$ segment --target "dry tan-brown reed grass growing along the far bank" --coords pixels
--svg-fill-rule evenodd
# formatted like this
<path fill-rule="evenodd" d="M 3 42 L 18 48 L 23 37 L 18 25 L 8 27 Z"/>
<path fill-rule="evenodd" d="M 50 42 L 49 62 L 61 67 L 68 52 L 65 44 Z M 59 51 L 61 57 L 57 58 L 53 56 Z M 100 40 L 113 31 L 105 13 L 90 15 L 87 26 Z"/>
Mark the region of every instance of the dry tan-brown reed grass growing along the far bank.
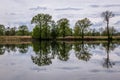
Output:
<path fill-rule="evenodd" d="M 84 40 L 85 41 L 93 41 L 93 40 L 107 40 L 108 37 L 107 36 L 85 36 Z M 44 39 L 45 40 L 45 39 Z M 50 39 L 52 40 L 52 39 Z M 56 40 L 82 40 L 81 36 L 66 36 L 66 37 L 58 37 Z M 113 36 L 112 40 L 120 40 L 120 36 Z M 0 36 L 0 43 L 2 42 L 31 42 L 32 41 L 32 37 L 31 36 Z"/>

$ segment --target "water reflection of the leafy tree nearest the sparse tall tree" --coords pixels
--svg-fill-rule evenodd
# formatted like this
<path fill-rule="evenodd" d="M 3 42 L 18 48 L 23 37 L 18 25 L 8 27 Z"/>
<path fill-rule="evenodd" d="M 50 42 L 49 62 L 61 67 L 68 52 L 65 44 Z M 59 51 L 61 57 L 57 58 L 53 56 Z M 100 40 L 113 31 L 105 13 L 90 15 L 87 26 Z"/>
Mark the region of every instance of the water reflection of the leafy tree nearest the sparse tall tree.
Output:
<path fill-rule="evenodd" d="M 89 61 L 92 54 L 88 51 L 88 46 L 85 46 L 84 41 L 81 44 L 74 45 L 75 55 L 79 60 Z"/>

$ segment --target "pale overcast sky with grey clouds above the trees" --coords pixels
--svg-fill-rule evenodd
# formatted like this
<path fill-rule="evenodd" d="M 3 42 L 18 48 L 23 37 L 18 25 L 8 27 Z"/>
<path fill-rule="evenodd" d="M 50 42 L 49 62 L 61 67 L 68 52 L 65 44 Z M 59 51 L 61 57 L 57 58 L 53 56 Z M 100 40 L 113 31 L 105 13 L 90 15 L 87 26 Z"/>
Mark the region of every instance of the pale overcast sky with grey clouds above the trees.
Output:
<path fill-rule="evenodd" d="M 78 19 L 87 17 L 93 23 L 92 28 L 99 28 L 105 26 L 100 14 L 106 10 L 115 14 L 110 25 L 120 30 L 120 0 L 0 0 L 0 24 L 26 24 L 32 29 L 32 17 L 48 13 L 55 21 L 68 18 L 71 27 Z"/>

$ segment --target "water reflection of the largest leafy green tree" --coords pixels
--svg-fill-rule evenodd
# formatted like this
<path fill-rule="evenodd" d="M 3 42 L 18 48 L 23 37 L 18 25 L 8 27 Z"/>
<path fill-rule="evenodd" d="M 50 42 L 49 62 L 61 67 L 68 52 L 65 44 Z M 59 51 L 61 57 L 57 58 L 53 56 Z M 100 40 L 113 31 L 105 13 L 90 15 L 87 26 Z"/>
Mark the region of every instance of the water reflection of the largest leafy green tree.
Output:
<path fill-rule="evenodd" d="M 36 42 L 33 43 L 33 49 L 36 56 L 31 56 L 33 63 L 38 66 L 50 65 L 52 63 L 50 53 L 50 43 L 49 42 Z"/>

